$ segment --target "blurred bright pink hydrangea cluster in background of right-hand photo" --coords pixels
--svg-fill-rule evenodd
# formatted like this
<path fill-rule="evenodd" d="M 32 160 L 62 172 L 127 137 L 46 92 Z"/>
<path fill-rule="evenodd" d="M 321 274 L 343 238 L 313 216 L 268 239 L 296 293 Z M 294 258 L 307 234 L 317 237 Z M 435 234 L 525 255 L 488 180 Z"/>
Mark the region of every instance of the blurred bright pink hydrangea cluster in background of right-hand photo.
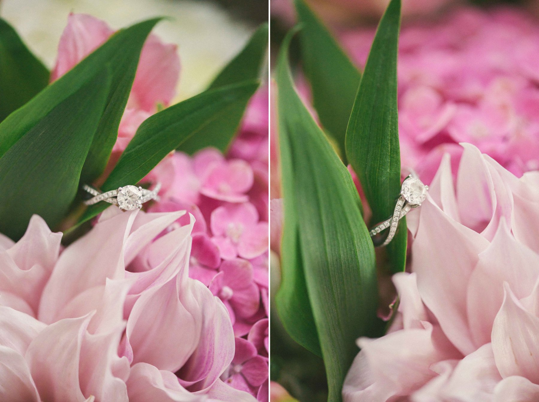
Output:
<path fill-rule="evenodd" d="M 342 34 L 360 65 L 374 33 Z M 430 182 L 443 154 L 459 156 L 458 144 L 466 142 L 516 175 L 539 168 L 536 19 L 516 9 L 461 8 L 438 21 L 405 24 L 398 57 L 403 167 Z"/>

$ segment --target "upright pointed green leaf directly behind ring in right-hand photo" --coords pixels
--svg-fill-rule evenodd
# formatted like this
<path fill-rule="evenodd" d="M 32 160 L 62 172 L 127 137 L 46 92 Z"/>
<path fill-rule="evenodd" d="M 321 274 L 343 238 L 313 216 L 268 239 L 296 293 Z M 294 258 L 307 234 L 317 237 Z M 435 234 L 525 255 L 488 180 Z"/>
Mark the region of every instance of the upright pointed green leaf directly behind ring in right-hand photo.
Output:
<path fill-rule="evenodd" d="M 393 215 L 400 193 L 397 112 L 397 52 L 400 0 L 391 0 L 382 17 L 350 115 L 346 154 L 372 210 L 372 223 Z M 403 271 L 406 221 L 387 247 L 393 272 Z"/>

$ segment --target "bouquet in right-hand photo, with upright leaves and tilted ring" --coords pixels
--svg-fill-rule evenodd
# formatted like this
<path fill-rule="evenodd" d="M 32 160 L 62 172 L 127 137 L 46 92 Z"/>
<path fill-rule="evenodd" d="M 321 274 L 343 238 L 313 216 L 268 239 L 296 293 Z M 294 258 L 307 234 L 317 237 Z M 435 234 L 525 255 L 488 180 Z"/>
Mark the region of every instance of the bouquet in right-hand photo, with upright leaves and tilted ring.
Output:
<path fill-rule="evenodd" d="M 335 39 L 295 8 L 272 379 L 301 401 L 538 400 L 537 21 L 459 6 L 400 32 L 391 0 L 376 31 Z"/>

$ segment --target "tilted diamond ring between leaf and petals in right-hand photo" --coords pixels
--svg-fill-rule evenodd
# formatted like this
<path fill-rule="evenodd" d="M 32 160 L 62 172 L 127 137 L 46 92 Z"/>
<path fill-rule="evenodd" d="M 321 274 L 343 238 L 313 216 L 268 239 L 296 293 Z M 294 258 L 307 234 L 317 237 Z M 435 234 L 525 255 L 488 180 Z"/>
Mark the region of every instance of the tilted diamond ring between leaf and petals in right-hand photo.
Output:
<path fill-rule="evenodd" d="M 409 213 L 410 209 L 419 207 L 421 203 L 425 201 L 428 189 L 429 186 L 425 186 L 421 180 L 413 175 L 409 175 L 403 181 L 403 184 L 400 187 L 400 196 L 397 199 L 393 215 L 388 220 L 379 223 L 369 231 L 371 237 L 375 237 L 383 230 L 389 228 L 388 237 L 385 238 L 384 242 L 382 244 L 377 244 L 379 242 L 375 242 L 375 245 L 384 246 L 391 242 L 397 232 L 399 221 Z"/>

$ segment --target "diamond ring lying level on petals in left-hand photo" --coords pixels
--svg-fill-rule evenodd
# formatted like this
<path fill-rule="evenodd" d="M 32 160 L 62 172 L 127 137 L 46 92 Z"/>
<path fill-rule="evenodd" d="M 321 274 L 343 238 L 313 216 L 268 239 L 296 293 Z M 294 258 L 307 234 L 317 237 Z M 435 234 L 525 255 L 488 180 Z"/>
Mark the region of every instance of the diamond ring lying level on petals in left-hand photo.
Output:
<path fill-rule="evenodd" d="M 161 189 L 161 184 L 157 183 L 153 190 L 137 186 L 119 187 L 117 190 L 110 190 L 105 193 L 100 193 L 93 187 L 88 185 L 82 186 L 82 189 L 93 195 L 93 198 L 84 201 L 86 205 L 96 204 L 100 201 L 109 202 L 118 205 L 120 209 L 131 211 L 136 208 L 142 208 L 144 202 L 150 200 L 159 200 L 157 193 Z"/>

